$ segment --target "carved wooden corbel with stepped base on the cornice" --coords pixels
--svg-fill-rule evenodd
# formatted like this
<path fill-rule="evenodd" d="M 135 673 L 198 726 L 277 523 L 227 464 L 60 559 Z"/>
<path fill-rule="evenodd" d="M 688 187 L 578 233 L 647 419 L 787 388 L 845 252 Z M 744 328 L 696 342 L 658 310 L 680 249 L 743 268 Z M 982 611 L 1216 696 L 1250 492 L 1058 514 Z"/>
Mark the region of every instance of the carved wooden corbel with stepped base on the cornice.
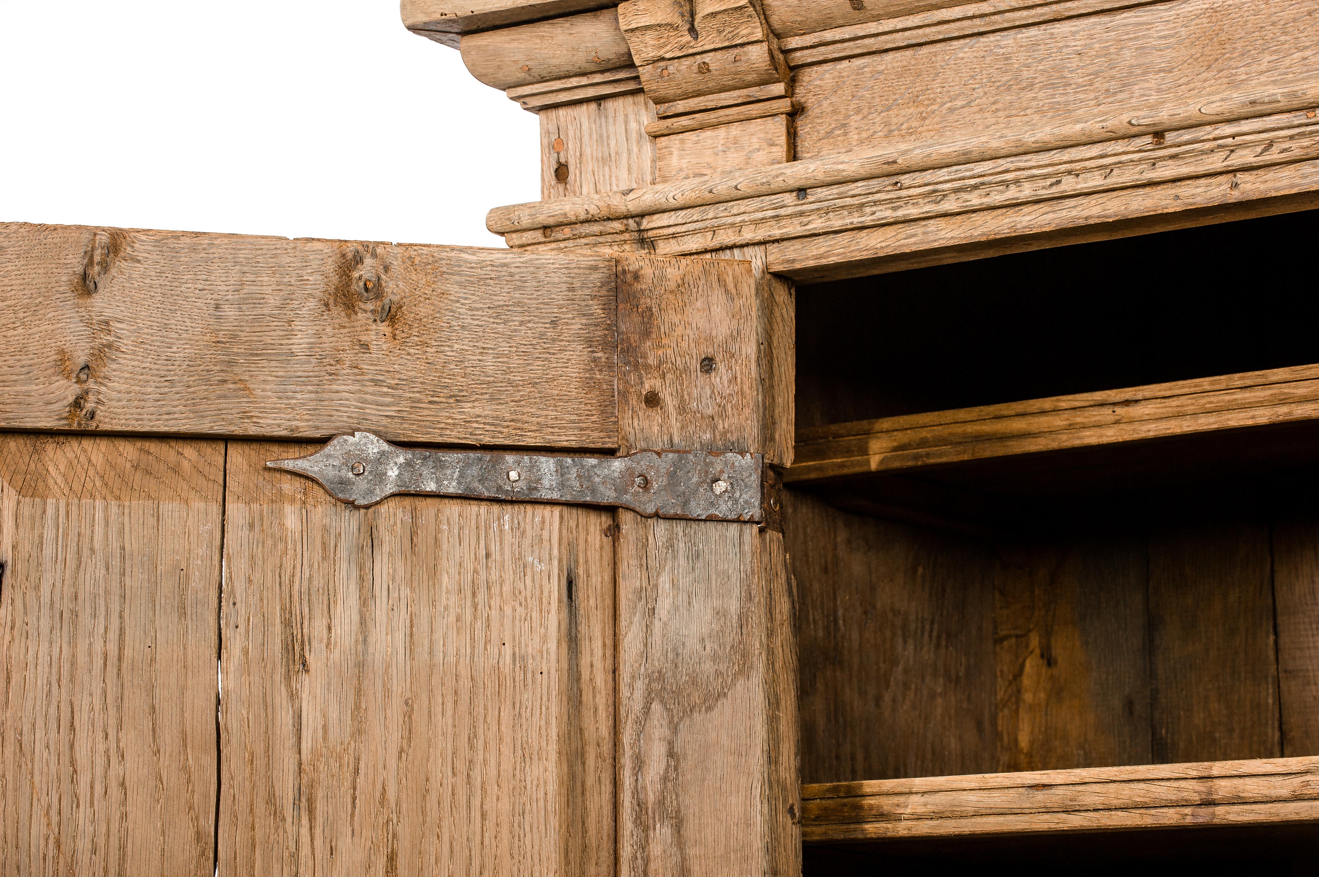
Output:
<path fill-rule="evenodd" d="M 658 181 L 793 158 L 787 65 L 757 0 L 628 0 L 619 24 L 658 119 Z"/>

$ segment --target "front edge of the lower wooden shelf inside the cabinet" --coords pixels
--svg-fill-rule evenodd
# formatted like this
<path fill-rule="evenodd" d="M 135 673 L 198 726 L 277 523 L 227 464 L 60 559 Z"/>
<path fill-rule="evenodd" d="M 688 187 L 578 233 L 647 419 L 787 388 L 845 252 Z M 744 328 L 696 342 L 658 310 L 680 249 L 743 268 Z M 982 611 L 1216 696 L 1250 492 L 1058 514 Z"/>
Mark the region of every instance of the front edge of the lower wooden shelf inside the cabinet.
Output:
<path fill-rule="evenodd" d="M 802 787 L 807 844 L 1319 822 L 1319 757 Z"/>

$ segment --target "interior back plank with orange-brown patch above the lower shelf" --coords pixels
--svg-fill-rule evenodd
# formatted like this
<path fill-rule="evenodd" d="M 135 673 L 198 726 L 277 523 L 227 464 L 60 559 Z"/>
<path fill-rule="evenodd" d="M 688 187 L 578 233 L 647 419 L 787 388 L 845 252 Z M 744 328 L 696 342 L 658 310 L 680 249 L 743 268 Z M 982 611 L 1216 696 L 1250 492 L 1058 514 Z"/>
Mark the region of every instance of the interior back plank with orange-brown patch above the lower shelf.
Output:
<path fill-rule="evenodd" d="M 1146 582 L 1138 535 L 1004 553 L 995 584 L 997 770 L 1150 764 Z"/>

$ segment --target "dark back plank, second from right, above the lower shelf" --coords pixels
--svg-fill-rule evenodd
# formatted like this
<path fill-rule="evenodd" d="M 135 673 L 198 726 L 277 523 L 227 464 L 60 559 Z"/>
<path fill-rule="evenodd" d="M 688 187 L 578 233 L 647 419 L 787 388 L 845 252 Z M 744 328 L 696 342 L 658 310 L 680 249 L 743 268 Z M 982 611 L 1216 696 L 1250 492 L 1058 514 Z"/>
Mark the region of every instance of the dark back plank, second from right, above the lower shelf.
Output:
<path fill-rule="evenodd" d="M 1268 526 L 1174 510 L 1149 568 L 1154 761 L 1282 754 Z"/>

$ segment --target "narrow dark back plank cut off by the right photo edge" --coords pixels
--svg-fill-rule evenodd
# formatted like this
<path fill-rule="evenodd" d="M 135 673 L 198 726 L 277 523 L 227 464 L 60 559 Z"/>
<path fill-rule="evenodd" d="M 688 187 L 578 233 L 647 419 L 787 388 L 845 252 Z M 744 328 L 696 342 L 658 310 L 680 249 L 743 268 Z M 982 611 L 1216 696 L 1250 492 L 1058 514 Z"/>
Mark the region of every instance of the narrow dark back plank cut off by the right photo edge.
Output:
<path fill-rule="evenodd" d="M 1282 754 L 1319 754 L 1319 520 L 1283 514 L 1273 525 Z"/>

